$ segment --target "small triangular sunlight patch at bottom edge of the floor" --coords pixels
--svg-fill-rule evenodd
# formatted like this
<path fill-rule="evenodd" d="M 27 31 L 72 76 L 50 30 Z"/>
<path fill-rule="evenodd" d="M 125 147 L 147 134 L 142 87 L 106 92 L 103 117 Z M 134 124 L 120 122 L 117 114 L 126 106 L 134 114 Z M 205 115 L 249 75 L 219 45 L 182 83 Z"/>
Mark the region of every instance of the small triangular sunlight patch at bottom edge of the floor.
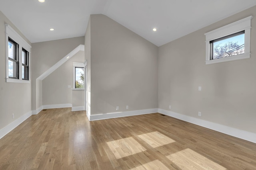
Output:
<path fill-rule="evenodd" d="M 160 160 L 154 160 L 130 170 L 169 170 Z"/>

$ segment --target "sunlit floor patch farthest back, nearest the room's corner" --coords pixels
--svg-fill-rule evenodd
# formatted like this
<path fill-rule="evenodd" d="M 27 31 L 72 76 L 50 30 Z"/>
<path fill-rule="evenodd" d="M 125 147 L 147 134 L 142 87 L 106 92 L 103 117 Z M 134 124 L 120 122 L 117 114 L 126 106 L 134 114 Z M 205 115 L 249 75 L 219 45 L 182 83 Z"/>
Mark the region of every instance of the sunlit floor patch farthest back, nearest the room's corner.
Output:
<path fill-rule="evenodd" d="M 160 133 L 158 131 L 146 133 L 143 135 L 138 135 L 138 137 L 140 137 L 143 141 L 148 143 L 148 145 L 150 145 L 153 148 L 160 147 L 160 146 L 175 142 L 171 138 L 163 135 L 162 133 Z"/>

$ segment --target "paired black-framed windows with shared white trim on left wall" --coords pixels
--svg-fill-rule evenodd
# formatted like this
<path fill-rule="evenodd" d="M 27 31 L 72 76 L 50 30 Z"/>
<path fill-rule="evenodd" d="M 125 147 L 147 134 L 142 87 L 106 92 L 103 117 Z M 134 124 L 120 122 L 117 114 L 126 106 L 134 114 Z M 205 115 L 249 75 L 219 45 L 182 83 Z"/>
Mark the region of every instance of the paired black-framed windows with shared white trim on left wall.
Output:
<path fill-rule="evenodd" d="M 6 82 L 30 83 L 31 46 L 10 25 L 6 26 Z"/>

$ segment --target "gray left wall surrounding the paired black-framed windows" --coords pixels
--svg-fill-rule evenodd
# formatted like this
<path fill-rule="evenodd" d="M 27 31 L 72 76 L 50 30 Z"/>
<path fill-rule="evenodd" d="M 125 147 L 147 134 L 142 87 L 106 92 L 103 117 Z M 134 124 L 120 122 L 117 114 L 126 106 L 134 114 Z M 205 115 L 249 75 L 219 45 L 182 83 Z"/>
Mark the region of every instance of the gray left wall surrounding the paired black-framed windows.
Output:
<path fill-rule="evenodd" d="M 31 84 L 6 82 L 6 34 L 5 23 L 8 23 L 22 38 L 31 43 L 0 12 L 0 129 L 31 111 Z M 12 119 L 14 113 L 14 119 Z"/>

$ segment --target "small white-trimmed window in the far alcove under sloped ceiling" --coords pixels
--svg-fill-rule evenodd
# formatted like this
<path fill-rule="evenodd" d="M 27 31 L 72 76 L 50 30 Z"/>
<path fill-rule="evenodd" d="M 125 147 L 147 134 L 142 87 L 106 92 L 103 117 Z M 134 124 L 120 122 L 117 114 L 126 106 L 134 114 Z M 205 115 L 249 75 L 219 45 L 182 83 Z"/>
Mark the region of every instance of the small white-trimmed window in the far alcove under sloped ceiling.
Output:
<path fill-rule="evenodd" d="M 84 63 L 73 62 L 73 88 L 84 89 Z"/>

